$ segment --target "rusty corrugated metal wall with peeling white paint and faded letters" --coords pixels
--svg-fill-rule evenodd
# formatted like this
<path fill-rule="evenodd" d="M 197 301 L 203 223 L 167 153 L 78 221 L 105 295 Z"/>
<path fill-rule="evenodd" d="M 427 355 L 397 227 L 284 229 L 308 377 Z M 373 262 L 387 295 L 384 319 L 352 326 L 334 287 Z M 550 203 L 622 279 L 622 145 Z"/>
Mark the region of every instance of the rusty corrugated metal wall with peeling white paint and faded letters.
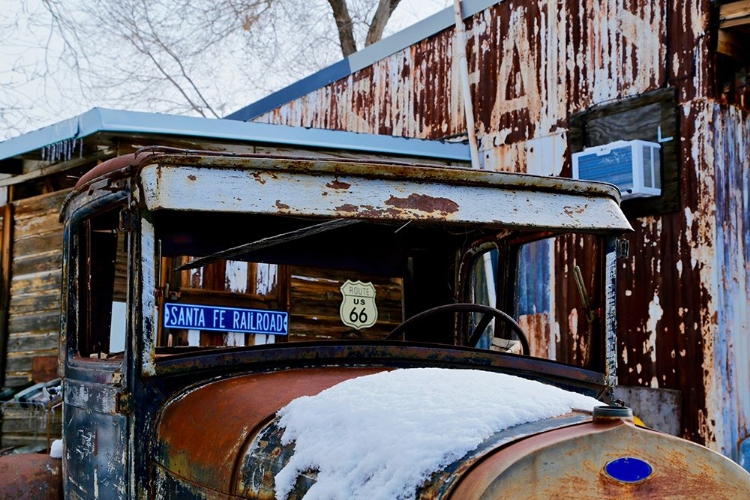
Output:
<path fill-rule="evenodd" d="M 719 105 L 709 0 L 506 0 L 467 20 L 481 161 L 569 175 L 571 115 L 676 92 L 677 210 L 633 220 L 618 377 L 681 391 L 685 437 L 750 433 L 748 117 Z M 255 121 L 424 138 L 464 133 L 448 29 Z"/>

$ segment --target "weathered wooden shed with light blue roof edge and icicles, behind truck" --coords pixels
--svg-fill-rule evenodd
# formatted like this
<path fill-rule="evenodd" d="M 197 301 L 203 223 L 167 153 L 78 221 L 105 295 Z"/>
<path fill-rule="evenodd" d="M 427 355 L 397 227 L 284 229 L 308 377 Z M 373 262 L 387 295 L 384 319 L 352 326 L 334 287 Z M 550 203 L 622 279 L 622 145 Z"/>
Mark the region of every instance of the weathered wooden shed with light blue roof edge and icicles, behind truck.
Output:
<path fill-rule="evenodd" d="M 377 155 L 446 165 L 465 164 L 469 159 L 467 146 L 455 142 L 109 109 L 92 109 L 1 142 L 0 389 L 18 389 L 58 377 L 63 238 L 59 217 L 66 196 L 97 164 L 150 145 L 308 157 Z M 304 269 L 281 272 L 246 266 L 243 276 L 237 276 L 231 265 L 222 264 L 213 271 L 211 276 L 201 276 L 199 290 L 187 289 L 194 278 L 188 276 L 183 293 L 205 295 L 212 280 L 220 281 L 222 290 L 225 283 L 231 287 L 242 282 L 245 288 L 252 283 L 275 294 L 282 288 L 290 294 L 321 293 L 316 277 Z M 297 279 L 298 275 L 304 279 Z M 281 280 L 285 286 L 276 287 Z M 312 313 L 294 310 L 290 315 L 298 324 L 314 323 Z M 316 320 L 323 317 L 320 311 L 315 316 Z M 53 435 L 60 432 L 59 408 L 50 418 L 46 408 L 34 404 L 0 402 L 0 410 L 0 448 L 44 444 L 47 429 Z"/>

